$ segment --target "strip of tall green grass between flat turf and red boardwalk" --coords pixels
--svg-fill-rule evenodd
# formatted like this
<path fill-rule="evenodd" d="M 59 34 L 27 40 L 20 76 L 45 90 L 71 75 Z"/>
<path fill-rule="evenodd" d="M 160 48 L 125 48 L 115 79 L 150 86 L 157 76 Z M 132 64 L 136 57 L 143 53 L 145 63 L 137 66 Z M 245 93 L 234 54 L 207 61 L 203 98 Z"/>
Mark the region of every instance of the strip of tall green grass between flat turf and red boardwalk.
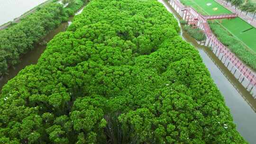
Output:
<path fill-rule="evenodd" d="M 218 37 L 219 41 L 229 47 L 243 62 L 256 70 L 256 53 L 243 45 L 237 38 L 230 35 L 218 23 L 209 22 L 212 32 Z"/>

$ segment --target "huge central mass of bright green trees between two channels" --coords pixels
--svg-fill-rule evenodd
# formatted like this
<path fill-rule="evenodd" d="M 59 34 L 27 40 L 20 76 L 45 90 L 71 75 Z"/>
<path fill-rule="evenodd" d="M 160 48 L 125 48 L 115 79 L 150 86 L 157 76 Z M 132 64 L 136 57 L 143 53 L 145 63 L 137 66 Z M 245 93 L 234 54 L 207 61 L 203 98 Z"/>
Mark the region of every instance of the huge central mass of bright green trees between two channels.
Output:
<path fill-rule="evenodd" d="M 246 144 L 156 0 L 93 0 L 0 95 L 0 144 Z"/>

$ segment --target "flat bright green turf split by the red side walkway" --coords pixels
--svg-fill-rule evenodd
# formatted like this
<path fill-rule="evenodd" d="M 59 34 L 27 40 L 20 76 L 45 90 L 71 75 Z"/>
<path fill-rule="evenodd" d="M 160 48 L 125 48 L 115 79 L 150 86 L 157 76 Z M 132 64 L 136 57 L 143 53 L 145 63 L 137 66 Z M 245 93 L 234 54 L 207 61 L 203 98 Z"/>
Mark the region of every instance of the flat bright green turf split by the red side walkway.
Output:
<path fill-rule="evenodd" d="M 230 14 L 231 12 L 222 7 L 214 0 L 181 0 L 186 5 L 192 6 L 203 14 L 220 15 Z M 208 5 L 207 5 L 208 4 Z M 239 12 L 239 11 L 238 11 Z M 248 24 L 241 18 L 223 19 L 221 25 L 231 34 L 240 39 L 245 45 L 256 52 L 256 28 Z M 247 29 L 252 28 L 248 31 Z M 246 31 L 246 32 L 243 32 Z"/>

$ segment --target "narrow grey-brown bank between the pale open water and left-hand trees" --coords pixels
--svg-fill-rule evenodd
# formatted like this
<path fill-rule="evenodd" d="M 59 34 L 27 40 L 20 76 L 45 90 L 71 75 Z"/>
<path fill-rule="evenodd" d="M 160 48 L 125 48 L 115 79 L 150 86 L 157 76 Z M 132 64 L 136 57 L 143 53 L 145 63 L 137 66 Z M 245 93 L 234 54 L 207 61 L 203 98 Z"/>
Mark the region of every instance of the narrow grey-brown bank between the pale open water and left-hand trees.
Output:
<path fill-rule="evenodd" d="M 13 23 L 18 23 L 21 18 L 25 18 L 26 16 L 28 16 L 28 15 L 30 15 L 31 13 L 35 12 L 38 7 L 42 7 L 42 6 L 46 5 L 47 3 L 51 2 L 51 1 L 53 1 L 53 0 L 47 0 L 47 1 L 45 1 L 45 2 L 43 2 L 43 3 L 41 3 L 41 4 L 39 4 L 38 6 L 34 7 L 33 9 L 28 10 L 27 12 L 25 12 L 25 13 L 22 14 L 21 16 L 19 16 L 19 17 L 17 17 L 17 18 L 14 18 L 12 21 L 9 21 L 9 22 L 7 22 L 7 23 L 5 23 L 5 24 L 2 24 L 2 25 L 0 26 L 0 30 L 9 27 L 9 25 L 11 25 L 11 24 L 13 24 Z"/>

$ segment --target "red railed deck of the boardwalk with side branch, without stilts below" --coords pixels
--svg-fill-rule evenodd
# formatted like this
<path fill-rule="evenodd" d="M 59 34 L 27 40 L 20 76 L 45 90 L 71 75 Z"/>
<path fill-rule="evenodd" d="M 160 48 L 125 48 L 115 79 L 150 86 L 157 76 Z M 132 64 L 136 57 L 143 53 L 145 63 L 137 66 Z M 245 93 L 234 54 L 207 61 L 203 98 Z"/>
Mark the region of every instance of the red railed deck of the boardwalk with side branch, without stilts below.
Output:
<path fill-rule="evenodd" d="M 207 22 L 209 19 L 221 19 L 221 18 L 236 18 L 238 17 L 237 14 L 225 14 L 225 15 L 215 15 L 215 16 L 202 16 L 192 7 L 184 6 L 179 0 L 170 0 L 171 5 L 174 4 L 174 9 L 181 15 L 180 13 L 185 13 L 185 20 L 187 20 L 188 24 L 195 24 L 199 23 L 199 27 L 204 31 L 207 39 L 211 42 L 211 45 L 217 47 L 219 50 L 219 54 L 222 53 L 223 56 L 228 59 L 237 70 L 239 70 L 244 77 L 247 78 L 249 84 L 256 86 L 256 76 L 255 74 L 247 68 L 236 56 L 233 54 L 225 45 L 223 45 L 219 39 L 212 33 L 210 26 Z M 185 12 L 186 11 L 186 12 Z M 183 14 L 181 15 L 183 17 Z M 187 18 L 188 16 L 188 18 Z M 217 50 L 217 51 L 218 51 Z M 216 51 L 216 52 L 217 52 Z M 225 61 L 226 61 L 225 60 Z M 236 71 L 235 71 L 236 72 Z"/>

